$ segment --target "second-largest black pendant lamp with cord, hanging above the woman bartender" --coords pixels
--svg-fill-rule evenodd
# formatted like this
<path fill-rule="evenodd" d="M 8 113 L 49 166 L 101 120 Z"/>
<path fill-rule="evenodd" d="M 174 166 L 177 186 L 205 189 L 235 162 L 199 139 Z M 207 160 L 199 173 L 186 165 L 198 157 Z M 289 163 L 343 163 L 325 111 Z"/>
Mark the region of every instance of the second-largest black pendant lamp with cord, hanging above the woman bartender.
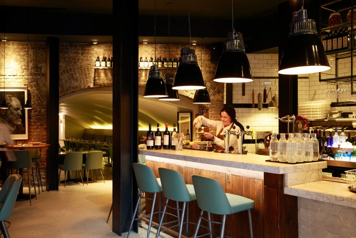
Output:
<path fill-rule="evenodd" d="M 234 0 L 232 0 L 232 32 L 227 34 L 227 41 L 224 42 L 214 81 L 221 83 L 253 81 L 242 34 L 234 29 Z"/>

